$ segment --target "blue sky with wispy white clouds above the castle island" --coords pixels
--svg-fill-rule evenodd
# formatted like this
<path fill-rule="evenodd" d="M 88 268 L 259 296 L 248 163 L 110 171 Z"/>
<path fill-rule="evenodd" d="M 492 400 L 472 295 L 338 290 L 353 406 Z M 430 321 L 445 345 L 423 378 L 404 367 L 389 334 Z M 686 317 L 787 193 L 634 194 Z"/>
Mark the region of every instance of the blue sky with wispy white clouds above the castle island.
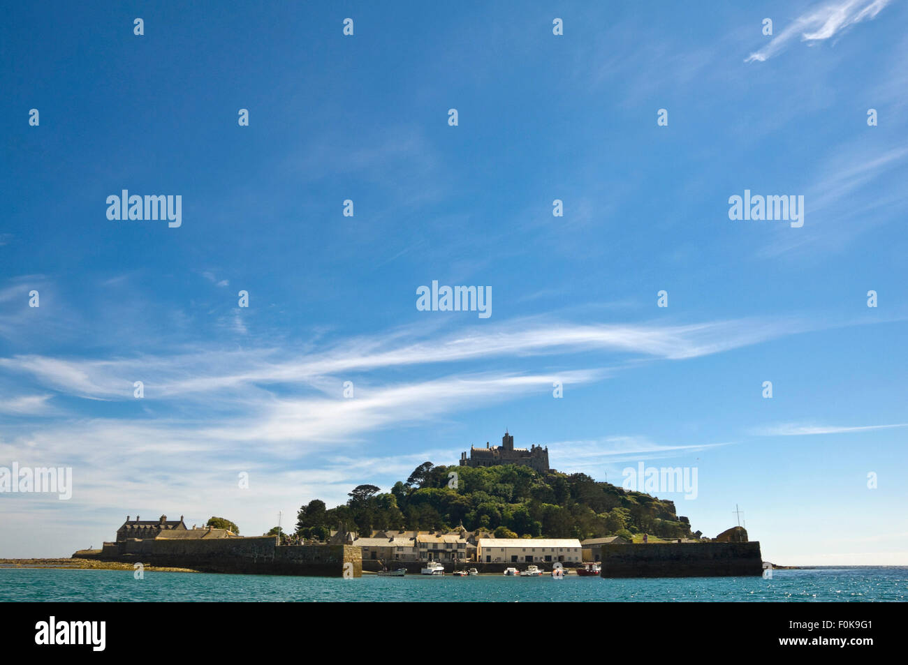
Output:
<path fill-rule="evenodd" d="M 10 10 L 0 465 L 74 494 L 0 495 L 0 556 L 263 533 L 507 426 L 568 473 L 696 467 L 664 496 L 767 560 L 908 564 L 905 3 L 385 5 Z M 182 226 L 108 220 L 124 189 Z M 804 226 L 729 220 L 745 190 Z M 433 279 L 491 317 L 418 311 Z"/>

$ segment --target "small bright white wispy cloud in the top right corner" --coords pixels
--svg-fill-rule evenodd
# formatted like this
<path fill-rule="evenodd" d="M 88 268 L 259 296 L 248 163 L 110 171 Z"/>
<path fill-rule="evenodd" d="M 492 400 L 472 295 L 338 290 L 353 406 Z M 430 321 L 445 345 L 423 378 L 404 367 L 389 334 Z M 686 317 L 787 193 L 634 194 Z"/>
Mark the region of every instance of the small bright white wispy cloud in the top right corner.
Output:
<path fill-rule="evenodd" d="M 850 25 L 870 21 L 890 0 L 844 0 L 826 3 L 800 15 L 785 27 L 769 44 L 747 56 L 745 63 L 764 62 L 781 53 L 787 44 L 799 37 L 808 45 L 816 44 L 840 34 Z"/>

